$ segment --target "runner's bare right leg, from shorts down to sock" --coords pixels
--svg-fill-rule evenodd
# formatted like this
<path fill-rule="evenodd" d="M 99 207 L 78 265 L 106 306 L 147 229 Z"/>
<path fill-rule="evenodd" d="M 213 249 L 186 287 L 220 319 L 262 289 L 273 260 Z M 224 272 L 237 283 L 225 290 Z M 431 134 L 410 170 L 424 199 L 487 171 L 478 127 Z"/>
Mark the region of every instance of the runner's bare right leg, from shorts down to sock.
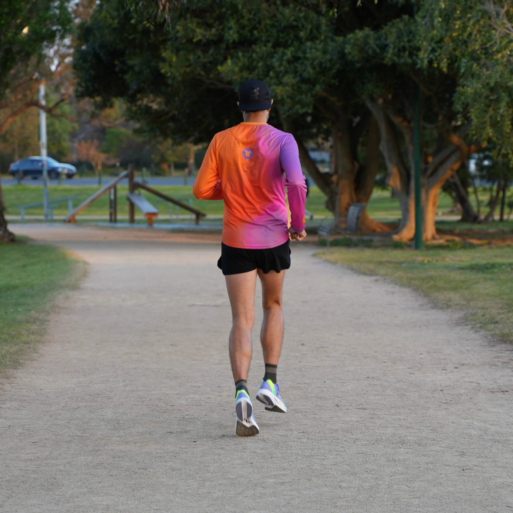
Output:
<path fill-rule="evenodd" d="M 260 342 L 264 352 L 264 362 L 278 365 L 283 343 L 282 290 L 285 270 L 269 271 L 264 274 L 258 270 L 262 282 L 262 306 L 264 322 L 260 331 Z"/>

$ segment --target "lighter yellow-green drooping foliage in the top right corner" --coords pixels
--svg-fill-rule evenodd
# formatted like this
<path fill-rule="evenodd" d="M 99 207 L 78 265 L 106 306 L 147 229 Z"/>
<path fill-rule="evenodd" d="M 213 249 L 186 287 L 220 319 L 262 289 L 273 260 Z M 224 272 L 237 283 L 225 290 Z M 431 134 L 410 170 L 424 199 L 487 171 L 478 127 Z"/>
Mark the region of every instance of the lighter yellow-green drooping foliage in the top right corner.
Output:
<path fill-rule="evenodd" d="M 513 33 L 504 1 L 425 2 L 419 11 L 421 65 L 457 77 L 453 108 L 469 134 L 511 154 Z"/>

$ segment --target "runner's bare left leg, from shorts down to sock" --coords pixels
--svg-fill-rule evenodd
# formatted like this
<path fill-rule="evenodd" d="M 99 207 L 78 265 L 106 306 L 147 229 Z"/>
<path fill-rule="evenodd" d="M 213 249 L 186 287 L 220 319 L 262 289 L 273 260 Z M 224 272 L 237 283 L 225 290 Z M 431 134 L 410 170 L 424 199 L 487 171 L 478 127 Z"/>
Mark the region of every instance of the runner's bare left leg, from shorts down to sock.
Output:
<path fill-rule="evenodd" d="M 230 332 L 230 362 L 235 382 L 247 380 L 253 352 L 251 330 L 255 323 L 257 270 L 225 277 L 233 326 Z"/>

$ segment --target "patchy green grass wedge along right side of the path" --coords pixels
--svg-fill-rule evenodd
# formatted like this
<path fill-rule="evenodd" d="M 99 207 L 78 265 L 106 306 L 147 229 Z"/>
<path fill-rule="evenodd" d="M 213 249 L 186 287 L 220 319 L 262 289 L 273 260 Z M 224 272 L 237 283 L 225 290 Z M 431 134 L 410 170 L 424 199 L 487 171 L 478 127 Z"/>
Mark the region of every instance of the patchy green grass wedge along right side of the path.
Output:
<path fill-rule="evenodd" d="M 513 342 L 513 249 L 347 248 L 321 251 L 325 260 L 379 274 L 455 308 L 505 342 Z"/>

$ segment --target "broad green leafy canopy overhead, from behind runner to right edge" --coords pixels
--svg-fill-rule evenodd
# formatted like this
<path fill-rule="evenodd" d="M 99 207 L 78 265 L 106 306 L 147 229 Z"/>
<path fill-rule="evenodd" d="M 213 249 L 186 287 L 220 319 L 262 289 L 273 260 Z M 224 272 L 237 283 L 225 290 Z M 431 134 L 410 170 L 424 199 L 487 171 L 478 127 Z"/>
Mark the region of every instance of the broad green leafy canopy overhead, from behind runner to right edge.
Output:
<path fill-rule="evenodd" d="M 503 137 L 499 122 L 509 133 L 509 41 L 480 0 L 423 0 L 416 15 L 411 2 L 341 0 L 328 10 L 240 0 L 171 3 L 167 11 L 147 1 L 125 5 L 103 2 L 80 30 L 81 94 L 102 105 L 123 97 L 132 116 L 166 136 L 205 142 L 229 126 L 238 117 L 235 90 L 249 76 L 268 81 L 281 116 L 299 117 L 311 134 L 326 124 L 319 98 L 393 94 L 410 115 L 415 81 L 425 91 L 426 123 L 470 121 L 483 141 Z M 482 87 L 481 78 L 477 87 L 487 66 L 491 82 Z M 494 103 L 481 101 L 485 95 Z"/>

